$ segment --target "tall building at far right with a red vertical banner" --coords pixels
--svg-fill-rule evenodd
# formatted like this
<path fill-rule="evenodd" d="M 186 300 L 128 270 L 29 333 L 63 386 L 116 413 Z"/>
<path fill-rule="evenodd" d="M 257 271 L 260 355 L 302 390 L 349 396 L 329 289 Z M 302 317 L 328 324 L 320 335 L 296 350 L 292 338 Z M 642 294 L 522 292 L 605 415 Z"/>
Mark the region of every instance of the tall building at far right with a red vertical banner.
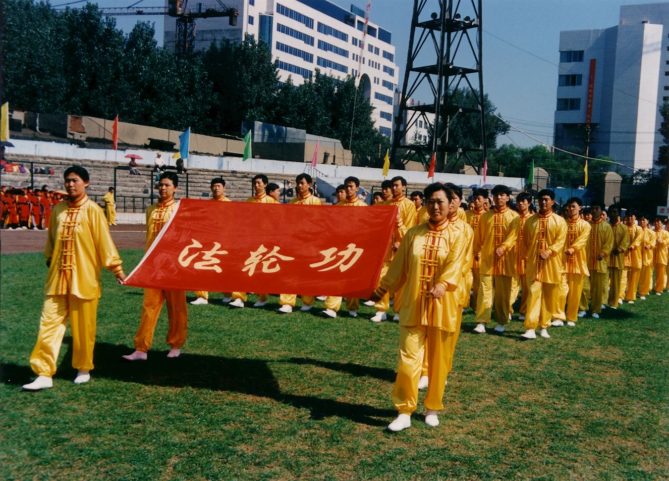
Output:
<path fill-rule="evenodd" d="M 669 3 L 620 7 L 615 27 L 562 31 L 559 49 L 555 146 L 584 148 L 589 120 L 590 156 L 652 168 L 669 100 Z"/>

